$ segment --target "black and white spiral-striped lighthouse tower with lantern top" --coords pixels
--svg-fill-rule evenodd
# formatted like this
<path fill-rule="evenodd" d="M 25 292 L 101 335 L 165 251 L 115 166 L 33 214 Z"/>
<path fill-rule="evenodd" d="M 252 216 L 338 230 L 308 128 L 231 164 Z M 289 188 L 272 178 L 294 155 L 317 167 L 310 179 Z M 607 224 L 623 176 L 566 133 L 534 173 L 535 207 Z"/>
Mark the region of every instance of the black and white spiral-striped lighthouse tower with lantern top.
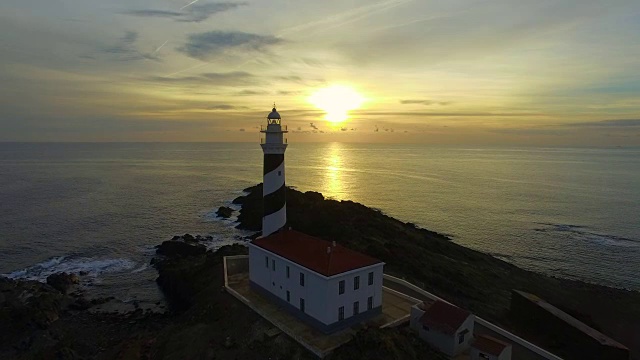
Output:
<path fill-rule="evenodd" d="M 284 134 L 287 133 L 287 127 L 283 127 L 280 121 L 276 104 L 273 104 L 273 110 L 267 116 L 267 126 L 260 129 L 260 132 L 265 134 L 260 141 L 264 153 L 262 236 L 282 229 L 287 223 L 284 182 L 284 152 L 287 149 Z"/>

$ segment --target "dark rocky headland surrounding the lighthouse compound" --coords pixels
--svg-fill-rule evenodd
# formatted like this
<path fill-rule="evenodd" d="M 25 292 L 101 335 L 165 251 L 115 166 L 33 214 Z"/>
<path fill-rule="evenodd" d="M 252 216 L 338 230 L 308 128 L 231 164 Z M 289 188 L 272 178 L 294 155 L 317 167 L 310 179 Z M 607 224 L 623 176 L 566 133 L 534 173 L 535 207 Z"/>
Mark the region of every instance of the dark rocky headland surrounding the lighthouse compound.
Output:
<path fill-rule="evenodd" d="M 259 231 L 261 185 L 246 189 L 246 195 L 235 199 L 234 204 L 241 205 L 238 227 Z M 288 189 L 287 206 L 289 226 L 294 229 L 378 257 L 387 264 L 385 272 L 525 337 L 531 334 L 513 328 L 508 316 L 514 288 L 546 298 L 625 344 L 632 359 L 638 359 L 638 292 L 525 271 L 459 246 L 445 235 L 358 203 L 327 200 L 316 192 Z M 231 214 L 225 208 L 219 215 Z M 313 358 L 286 335 L 265 337 L 265 331 L 273 326 L 224 292 L 223 256 L 246 254 L 247 248 L 234 244 L 212 252 L 201 244 L 206 239 L 185 234 L 157 246 L 151 263 L 169 304 L 165 313 L 141 309 L 124 314 L 95 311 L 110 299 L 86 299 L 74 288 L 75 279 L 70 274 L 53 276 L 49 284 L 0 277 L 0 358 Z M 549 350 L 562 352 L 562 348 Z M 356 355 L 370 359 L 440 358 L 406 329 L 364 330 L 331 358 Z"/>

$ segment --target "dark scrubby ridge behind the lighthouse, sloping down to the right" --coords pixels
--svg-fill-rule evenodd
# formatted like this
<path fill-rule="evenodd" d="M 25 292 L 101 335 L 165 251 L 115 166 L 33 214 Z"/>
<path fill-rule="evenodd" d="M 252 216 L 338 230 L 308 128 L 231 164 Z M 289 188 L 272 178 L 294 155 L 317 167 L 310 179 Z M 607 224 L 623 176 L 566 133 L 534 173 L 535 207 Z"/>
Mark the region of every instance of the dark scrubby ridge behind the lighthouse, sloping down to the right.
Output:
<path fill-rule="evenodd" d="M 245 189 L 239 228 L 259 231 L 262 185 Z M 288 223 L 296 230 L 377 257 L 385 273 L 404 278 L 476 315 L 514 329 L 511 290 L 527 291 L 596 326 L 640 356 L 640 293 L 523 270 L 448 237 L 353 201 L 287 188 Z M 528 336 L 526 329 L 514 329 Z M 554 349 L 554 351 L 562 351 Z"/>

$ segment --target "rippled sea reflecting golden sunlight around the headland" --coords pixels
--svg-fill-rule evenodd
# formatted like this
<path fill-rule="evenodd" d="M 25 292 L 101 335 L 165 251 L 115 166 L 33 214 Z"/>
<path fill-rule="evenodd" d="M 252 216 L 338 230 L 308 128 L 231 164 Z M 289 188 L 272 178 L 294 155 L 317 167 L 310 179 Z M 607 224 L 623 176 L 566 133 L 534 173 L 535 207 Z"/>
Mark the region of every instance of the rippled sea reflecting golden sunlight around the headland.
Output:
<path fill-rule="evenodd" d="M 522 268 L 640 290 L 640 148 L 300 143 L 286 169 Z M 156 304 L 154 246 L 244 242 L 215 211 L 261 180 L 255 143 L 0 143 L 0 274 Z"/>

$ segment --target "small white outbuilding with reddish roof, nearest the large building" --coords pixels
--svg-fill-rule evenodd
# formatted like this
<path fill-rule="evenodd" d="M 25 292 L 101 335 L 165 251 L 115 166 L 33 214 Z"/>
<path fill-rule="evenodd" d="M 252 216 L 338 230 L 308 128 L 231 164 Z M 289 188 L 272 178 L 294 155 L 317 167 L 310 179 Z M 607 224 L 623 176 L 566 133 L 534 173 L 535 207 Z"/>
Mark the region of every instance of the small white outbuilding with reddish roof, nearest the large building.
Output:
<path fill-rule="evenodd" d="M 438 300 L 432 304 L 414 305 L 409 326 L 434 348 L 456 356 L 469 348 L 474 322 L 475 317 L 470 312 Z"/>

